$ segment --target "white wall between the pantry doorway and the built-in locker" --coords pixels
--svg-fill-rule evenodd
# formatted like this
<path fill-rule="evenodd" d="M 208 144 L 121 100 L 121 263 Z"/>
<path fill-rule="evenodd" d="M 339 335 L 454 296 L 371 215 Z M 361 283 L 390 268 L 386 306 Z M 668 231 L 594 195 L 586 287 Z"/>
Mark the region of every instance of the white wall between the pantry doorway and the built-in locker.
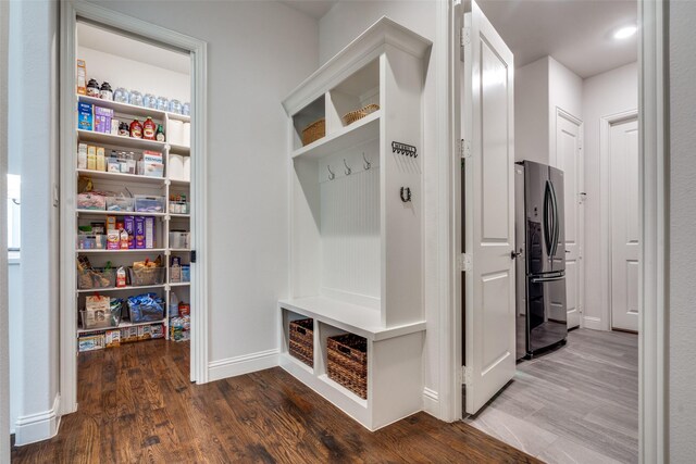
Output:
<path fill-rule="evenodd" d="M 318 66 L 316 22 L 273 1 L 107 1 L 208 42 L 208 276 L 212 378 L 277 349 L 288 283 L 287 118 L 281 101 Z M 89 71 L 89 70 L 88 70 Z M 262 360 L 277 362 L 269 355 Z"/>

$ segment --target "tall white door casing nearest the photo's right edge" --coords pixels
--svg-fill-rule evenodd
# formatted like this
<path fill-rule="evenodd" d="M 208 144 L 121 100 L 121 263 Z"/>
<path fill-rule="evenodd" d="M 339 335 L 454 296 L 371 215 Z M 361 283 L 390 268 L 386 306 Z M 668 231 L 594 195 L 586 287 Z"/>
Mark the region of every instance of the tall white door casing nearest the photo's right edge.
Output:
<path fill-rule="evenodd" d="M 669 3 L 638 1 L 641 293 L 638 299 L 638 457 L 669 462 Z"/>

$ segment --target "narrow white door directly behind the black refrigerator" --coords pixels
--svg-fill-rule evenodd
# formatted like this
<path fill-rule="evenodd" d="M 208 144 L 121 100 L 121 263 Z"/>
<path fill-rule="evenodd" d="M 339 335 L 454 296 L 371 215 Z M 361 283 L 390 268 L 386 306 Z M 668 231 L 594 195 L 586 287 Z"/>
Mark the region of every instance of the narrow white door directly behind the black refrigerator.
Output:
<path fill-rule="evenodd" d="M 566 309 L 568 328 L 573 328 L 580 325 L 583 297 L 582 122 L 560 110 L 556 114 L 556 167 L 563 171 L 566 184 Z"/>

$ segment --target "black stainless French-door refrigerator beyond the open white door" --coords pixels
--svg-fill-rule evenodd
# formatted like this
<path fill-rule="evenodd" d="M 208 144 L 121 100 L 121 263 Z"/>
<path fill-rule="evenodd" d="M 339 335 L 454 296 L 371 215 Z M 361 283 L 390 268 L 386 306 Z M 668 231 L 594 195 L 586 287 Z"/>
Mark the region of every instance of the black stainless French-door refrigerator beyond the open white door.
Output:
<path fill-rule="evenodd" d="M 524 161 L 515 171 L 517 359 L 564 342 L 563 172 Z"/>

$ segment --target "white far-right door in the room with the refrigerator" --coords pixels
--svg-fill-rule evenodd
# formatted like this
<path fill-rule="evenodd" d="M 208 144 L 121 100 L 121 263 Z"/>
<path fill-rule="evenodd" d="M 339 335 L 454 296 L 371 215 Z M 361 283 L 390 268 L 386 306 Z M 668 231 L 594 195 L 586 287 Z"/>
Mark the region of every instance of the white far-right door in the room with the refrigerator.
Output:
<path fill-rule="evenodd" d="M 638 122 L 611 125 L 611 327 L 638 330 Z"/>

